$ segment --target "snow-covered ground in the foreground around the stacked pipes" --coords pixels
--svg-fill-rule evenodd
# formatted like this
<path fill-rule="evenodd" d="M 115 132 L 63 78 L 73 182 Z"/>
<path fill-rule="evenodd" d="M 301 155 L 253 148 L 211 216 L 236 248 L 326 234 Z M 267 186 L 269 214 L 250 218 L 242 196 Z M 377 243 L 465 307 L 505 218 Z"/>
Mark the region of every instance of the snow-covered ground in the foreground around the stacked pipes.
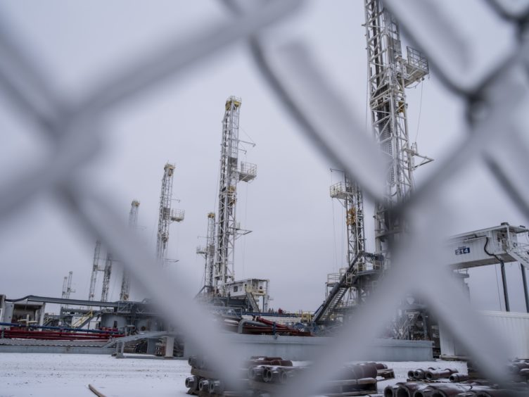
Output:
<path fill-rule="evenodd" d="M 395 379 L 378 382 L 379 393 L 388 384 L 404 382 L 408 370 L 441 367 L 466 373 L 466 363 L 461 362 L 386 364 L 395 370 Z M 139 355 L 116 359 L 93 354 L 0 353 L 0 397 L 94 397 L 89 384 L 107 397 L 187 396 L 184 379 L 189 372 L 186 360 Z"/>

